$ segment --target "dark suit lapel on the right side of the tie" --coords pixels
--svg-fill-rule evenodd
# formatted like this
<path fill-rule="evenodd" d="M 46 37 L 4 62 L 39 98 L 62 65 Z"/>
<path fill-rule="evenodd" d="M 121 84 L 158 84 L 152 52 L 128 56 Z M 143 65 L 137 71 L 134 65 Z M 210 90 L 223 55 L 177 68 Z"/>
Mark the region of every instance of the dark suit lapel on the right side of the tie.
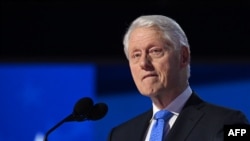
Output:
<path fill-rule="evenodd" d="M 195 93 L 191 95 L 179 117 L 176 119 L 172 129 L 169 131 L 168 141 L 184 141 L 196 123 L 202 118 L 204 114 L 201 110 L 201 106 L 204 103 Z"/>

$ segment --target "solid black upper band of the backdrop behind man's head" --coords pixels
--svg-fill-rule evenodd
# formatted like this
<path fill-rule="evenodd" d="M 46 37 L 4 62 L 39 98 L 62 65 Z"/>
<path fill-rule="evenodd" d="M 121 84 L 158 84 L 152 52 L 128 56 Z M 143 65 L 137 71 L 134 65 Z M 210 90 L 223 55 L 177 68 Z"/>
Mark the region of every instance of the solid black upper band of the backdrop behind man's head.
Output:
<path fill-rule="evenodd" d="M 192 60 L 250 60 L 249 1 L 12 1 L 1 3 L 1 61 L 124 62 L 122 38 L 145 14 L 174 18 Z"/>

